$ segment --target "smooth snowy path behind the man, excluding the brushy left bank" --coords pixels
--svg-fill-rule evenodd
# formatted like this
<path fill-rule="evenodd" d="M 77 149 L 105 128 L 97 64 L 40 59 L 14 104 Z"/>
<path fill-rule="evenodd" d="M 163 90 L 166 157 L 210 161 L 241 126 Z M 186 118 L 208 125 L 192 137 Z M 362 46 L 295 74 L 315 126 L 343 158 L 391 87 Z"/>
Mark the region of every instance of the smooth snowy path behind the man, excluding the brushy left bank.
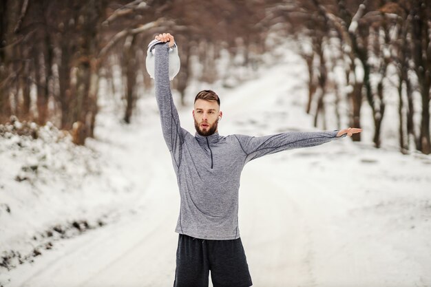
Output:
<path fill-rule="evenodd" d="M 276 67 L 271 74 L 295 78 L 292 67 Z M 229 92 L 220 134 L 311 130 L 301 100 L 283 96 L 301 83 L 286 86 L 284 77 L 271 74 Z M 189 109 L 181 111 L 191 131 L 189 117 Z M 6 286 L 172 285 L 179 195 L 171 159 L 158 118 L 145 120 L 132 134 L 112 142 L 121 142 L 119 166 L 142 183 L 134 186 L 140 195 L 128 203 L 134 213 L 56 243 L 34 264 L 10 271 Z M 132 138 L 143 145 L 136 147 Z M 143 162 L 131 166 L 133 158 Z M 431 286 L 430 162 L 344 140 L 248 164 L 240 230 L 253 286 Z"/>

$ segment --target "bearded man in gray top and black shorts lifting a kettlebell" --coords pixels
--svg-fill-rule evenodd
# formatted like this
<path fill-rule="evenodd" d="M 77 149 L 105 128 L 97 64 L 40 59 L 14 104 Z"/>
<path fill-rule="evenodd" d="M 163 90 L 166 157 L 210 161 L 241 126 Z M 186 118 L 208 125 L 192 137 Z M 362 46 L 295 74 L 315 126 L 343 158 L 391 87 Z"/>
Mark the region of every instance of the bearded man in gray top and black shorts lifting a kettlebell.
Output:
<path fill-rule="evenodd" d="M 262 137 L 220 136 L 220 98 L 206 89 L 194 101 L 196 134 L 192 135 L 181 127 L 171 95 L 169 53 L 178 54 L 174 36 L 159 34 L 151 43 L 162 134 L 180 190 L 174 287 L 207 287 L 210 270 L 214 287 L 251 286 L 238 227 L 238 191 L 244 165 L 278 151 L 352 136 L 361 129 L 291 131 Z"/>

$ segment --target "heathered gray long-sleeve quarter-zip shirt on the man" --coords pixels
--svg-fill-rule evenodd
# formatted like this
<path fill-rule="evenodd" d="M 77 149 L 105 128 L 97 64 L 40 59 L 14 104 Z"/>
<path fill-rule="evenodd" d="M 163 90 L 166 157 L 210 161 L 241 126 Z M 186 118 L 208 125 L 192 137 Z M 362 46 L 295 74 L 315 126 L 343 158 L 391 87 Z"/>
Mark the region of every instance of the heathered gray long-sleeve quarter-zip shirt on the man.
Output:
<path fill-rule="evenodd" d="M 218 133 L 193 136 L 180 126 L 172 100 L 169 47 L 160 43 L 155 49 L 156 99 L 162 134 L 171 152 L 180 189 L 176 232 L 208 240 L 237 239 L 240 237 L 238 191 L 244 165 L 266 154 L 322 145 L 336 139 L 337 131 L 293 131 L 262 137 Z"/>

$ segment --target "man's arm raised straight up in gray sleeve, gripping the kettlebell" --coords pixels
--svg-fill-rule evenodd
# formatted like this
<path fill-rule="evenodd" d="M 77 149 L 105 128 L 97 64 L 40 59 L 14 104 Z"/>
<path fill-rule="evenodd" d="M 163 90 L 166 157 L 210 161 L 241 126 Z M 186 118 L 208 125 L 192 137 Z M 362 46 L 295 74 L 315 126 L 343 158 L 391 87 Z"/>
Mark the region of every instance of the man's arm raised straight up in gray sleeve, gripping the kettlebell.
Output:
<path fill-rule="evenodd" d="M 156 36 L 156 39 L 158 39 L 158 36 Z M 166 41 L 158 39 L 162 43 L 154 45 L 154 85 L 163 137 L 178 167 L 185 131 L 180 126 L 180 118 L 172 100 L 171 85 L 169 83 L 169 50 L 176 49 L 176 46 L 169 47 L 173 45 L 174 37 L 171 36 L 170 39 L 171 43 L 163 43 Z"/>

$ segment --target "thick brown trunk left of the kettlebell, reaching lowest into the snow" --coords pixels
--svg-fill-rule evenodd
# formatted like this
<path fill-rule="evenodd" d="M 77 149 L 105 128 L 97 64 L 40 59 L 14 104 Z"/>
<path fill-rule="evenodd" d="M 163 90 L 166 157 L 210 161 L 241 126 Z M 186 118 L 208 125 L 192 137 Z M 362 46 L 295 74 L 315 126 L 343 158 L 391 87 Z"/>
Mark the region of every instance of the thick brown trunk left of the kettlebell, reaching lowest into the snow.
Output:
<path fill-rule="evenodd" d="M 100 15 L 107 1 L 87 1 L 76 6 L 74 21 L 68 27 L 71 37 L 63 37 L 61 54 L 61 109 L 62 127 L 75 125 L 76 139 L 82 145 L 94 134 L 98 92 L 98 29 Z M 72 72 L 72 73 L 71 73 Z"/>

